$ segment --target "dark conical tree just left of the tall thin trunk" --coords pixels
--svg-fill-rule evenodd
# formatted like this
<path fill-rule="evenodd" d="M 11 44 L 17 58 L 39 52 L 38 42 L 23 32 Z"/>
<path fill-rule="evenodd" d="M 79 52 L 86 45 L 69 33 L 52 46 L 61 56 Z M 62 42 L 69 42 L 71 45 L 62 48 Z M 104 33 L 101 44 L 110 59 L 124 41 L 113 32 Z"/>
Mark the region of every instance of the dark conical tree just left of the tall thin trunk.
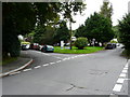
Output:
<path fill-rule="evenodd" d="M 62 20 L 60 27 L 54 32 L 54 41 L 60 43 L 61 41 L 67 42 L 69 40 L 69 30 L 67 28 L 66 22 Z"/>

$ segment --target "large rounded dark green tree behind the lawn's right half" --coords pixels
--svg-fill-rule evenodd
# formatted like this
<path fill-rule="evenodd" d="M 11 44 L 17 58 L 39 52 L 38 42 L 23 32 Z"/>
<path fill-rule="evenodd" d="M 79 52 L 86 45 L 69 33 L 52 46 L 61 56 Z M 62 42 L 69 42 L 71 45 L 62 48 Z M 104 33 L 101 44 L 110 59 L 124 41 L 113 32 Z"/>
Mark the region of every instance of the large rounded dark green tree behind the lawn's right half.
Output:
<path fill-rule="evenodd" d="M 90 43 L 93 39 L 102 44 L 110 41 L 114 38 L 110 19 L 94 13 L 86 20 L 82 36 L 87 37 Z"/>

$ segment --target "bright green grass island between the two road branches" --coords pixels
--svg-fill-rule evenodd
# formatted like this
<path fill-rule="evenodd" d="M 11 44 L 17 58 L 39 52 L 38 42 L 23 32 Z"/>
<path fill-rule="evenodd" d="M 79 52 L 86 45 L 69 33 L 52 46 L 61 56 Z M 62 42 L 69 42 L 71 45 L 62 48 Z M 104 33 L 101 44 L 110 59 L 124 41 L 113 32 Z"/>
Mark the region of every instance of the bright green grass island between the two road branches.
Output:
<path fill-rule="evenodd" d="M 61 46 L 54 46 L 54 53 L 63 53 L 63 54 L 89 54 L 103 50 L 104 48 L 100 46 L 87 46 L 84 47 L 84 50 L 78 50 L 76 46 L 73 46 L 73 50 L 66 48 L 66 46 L 63 50 L 61 50 Z"/>

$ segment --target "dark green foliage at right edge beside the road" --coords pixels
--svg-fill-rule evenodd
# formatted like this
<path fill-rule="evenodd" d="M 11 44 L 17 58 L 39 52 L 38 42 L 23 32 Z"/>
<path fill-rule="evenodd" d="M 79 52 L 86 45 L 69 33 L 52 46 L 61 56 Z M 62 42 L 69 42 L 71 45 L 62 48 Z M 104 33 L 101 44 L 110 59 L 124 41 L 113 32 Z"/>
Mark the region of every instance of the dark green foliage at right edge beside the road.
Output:
<path fill-rule="evenodd" d="M 127 14 L 122 20 L 119 20 L 119 42 L 130 51 L 130 14 Z"/>

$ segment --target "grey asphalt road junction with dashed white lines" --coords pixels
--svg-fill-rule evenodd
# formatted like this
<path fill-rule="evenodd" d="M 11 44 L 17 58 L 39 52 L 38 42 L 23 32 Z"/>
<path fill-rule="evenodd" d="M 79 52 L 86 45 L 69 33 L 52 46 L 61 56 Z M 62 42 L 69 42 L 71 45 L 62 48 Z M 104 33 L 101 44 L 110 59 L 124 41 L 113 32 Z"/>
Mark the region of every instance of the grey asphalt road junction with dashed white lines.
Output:
<path fill-rule="evenodd" d="M 119 82 L 123 68 L 129 67 L 127 59 L 120 56 L 121 51 L 118 47 L 80 55 L 23 51 L 23 55 L 35 61 L 25 70 L 3 78 L 2 94 L 127 95 L 127 72 Z"/>

